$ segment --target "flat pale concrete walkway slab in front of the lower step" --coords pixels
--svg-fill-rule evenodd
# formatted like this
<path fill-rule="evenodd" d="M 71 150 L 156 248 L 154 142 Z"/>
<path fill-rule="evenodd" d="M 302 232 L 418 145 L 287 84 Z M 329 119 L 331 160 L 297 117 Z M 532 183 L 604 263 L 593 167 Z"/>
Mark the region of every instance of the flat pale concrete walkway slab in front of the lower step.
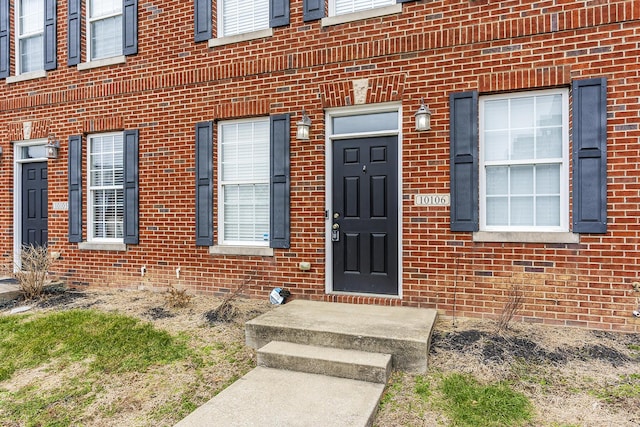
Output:
<path fill-rule="evenodd" d="M 384 384 L 257 367 L 176 427 L 363 427 Z"/>

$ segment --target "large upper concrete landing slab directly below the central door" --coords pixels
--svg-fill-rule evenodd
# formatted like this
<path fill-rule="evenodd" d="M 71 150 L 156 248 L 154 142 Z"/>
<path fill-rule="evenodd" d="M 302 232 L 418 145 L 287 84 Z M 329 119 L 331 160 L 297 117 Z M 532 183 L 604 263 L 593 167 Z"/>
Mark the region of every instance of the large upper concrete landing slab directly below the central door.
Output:
<path fill-rule="evenodd" d="M 391 354 L 394 369 L 424 372 L 436 311 L 294 300 L 246 323 L 246 342 L 271 341 Z"/>

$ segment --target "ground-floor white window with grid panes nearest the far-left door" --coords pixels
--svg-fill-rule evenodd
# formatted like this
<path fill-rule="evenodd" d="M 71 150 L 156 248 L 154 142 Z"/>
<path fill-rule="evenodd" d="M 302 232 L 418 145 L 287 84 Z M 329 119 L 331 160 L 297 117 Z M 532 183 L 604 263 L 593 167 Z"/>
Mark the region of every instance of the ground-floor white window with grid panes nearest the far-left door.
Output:
<path fill-rule="evenodd" d="M 89 136 L 89 240 L 122 242 L 122 133 Z"/>

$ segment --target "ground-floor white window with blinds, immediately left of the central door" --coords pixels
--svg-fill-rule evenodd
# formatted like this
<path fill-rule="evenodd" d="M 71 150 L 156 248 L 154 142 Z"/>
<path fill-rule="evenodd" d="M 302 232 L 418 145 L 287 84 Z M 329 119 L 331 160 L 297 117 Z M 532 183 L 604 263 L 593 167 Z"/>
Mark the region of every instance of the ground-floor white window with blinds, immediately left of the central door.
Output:
<path fill-rule="evenodd" d="M 269 126 L 265 118 L 218 127 L 220 244 L 269 245 Z"/>

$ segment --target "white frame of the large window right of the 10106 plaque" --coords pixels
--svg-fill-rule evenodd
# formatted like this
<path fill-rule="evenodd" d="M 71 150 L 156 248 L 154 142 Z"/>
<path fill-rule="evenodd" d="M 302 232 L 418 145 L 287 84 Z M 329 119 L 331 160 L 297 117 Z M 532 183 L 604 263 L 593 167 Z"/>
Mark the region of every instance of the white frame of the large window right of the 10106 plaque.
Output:
<path fill-rule="evenodd" d="M 544 95 L 562 96 L 562 158 L 531 160 L 507 160 L 500 162 L 487 162 L 485 160 L 484 146 L 484 117 L 485 102 L 496 99 L 516 99 L 526 97 L 537 97 Z M 532 112 L 532 114 L 534 114 Z M 480 231 L 481 232 L 524 232 L 524 233 L 567 233 L 569 231 L 569 90 L 549 89 L 531 92 L 517 92 L 510 94 L 487 95 L 479 99 L 479 180 L 480 180 Z M 559 164 L 560 165 L 560 224 L 558 226 L 488 226 L 487 225 L 487 190 L 486 190 L 486 166 L 498 165 L 540 165 Z"/>

